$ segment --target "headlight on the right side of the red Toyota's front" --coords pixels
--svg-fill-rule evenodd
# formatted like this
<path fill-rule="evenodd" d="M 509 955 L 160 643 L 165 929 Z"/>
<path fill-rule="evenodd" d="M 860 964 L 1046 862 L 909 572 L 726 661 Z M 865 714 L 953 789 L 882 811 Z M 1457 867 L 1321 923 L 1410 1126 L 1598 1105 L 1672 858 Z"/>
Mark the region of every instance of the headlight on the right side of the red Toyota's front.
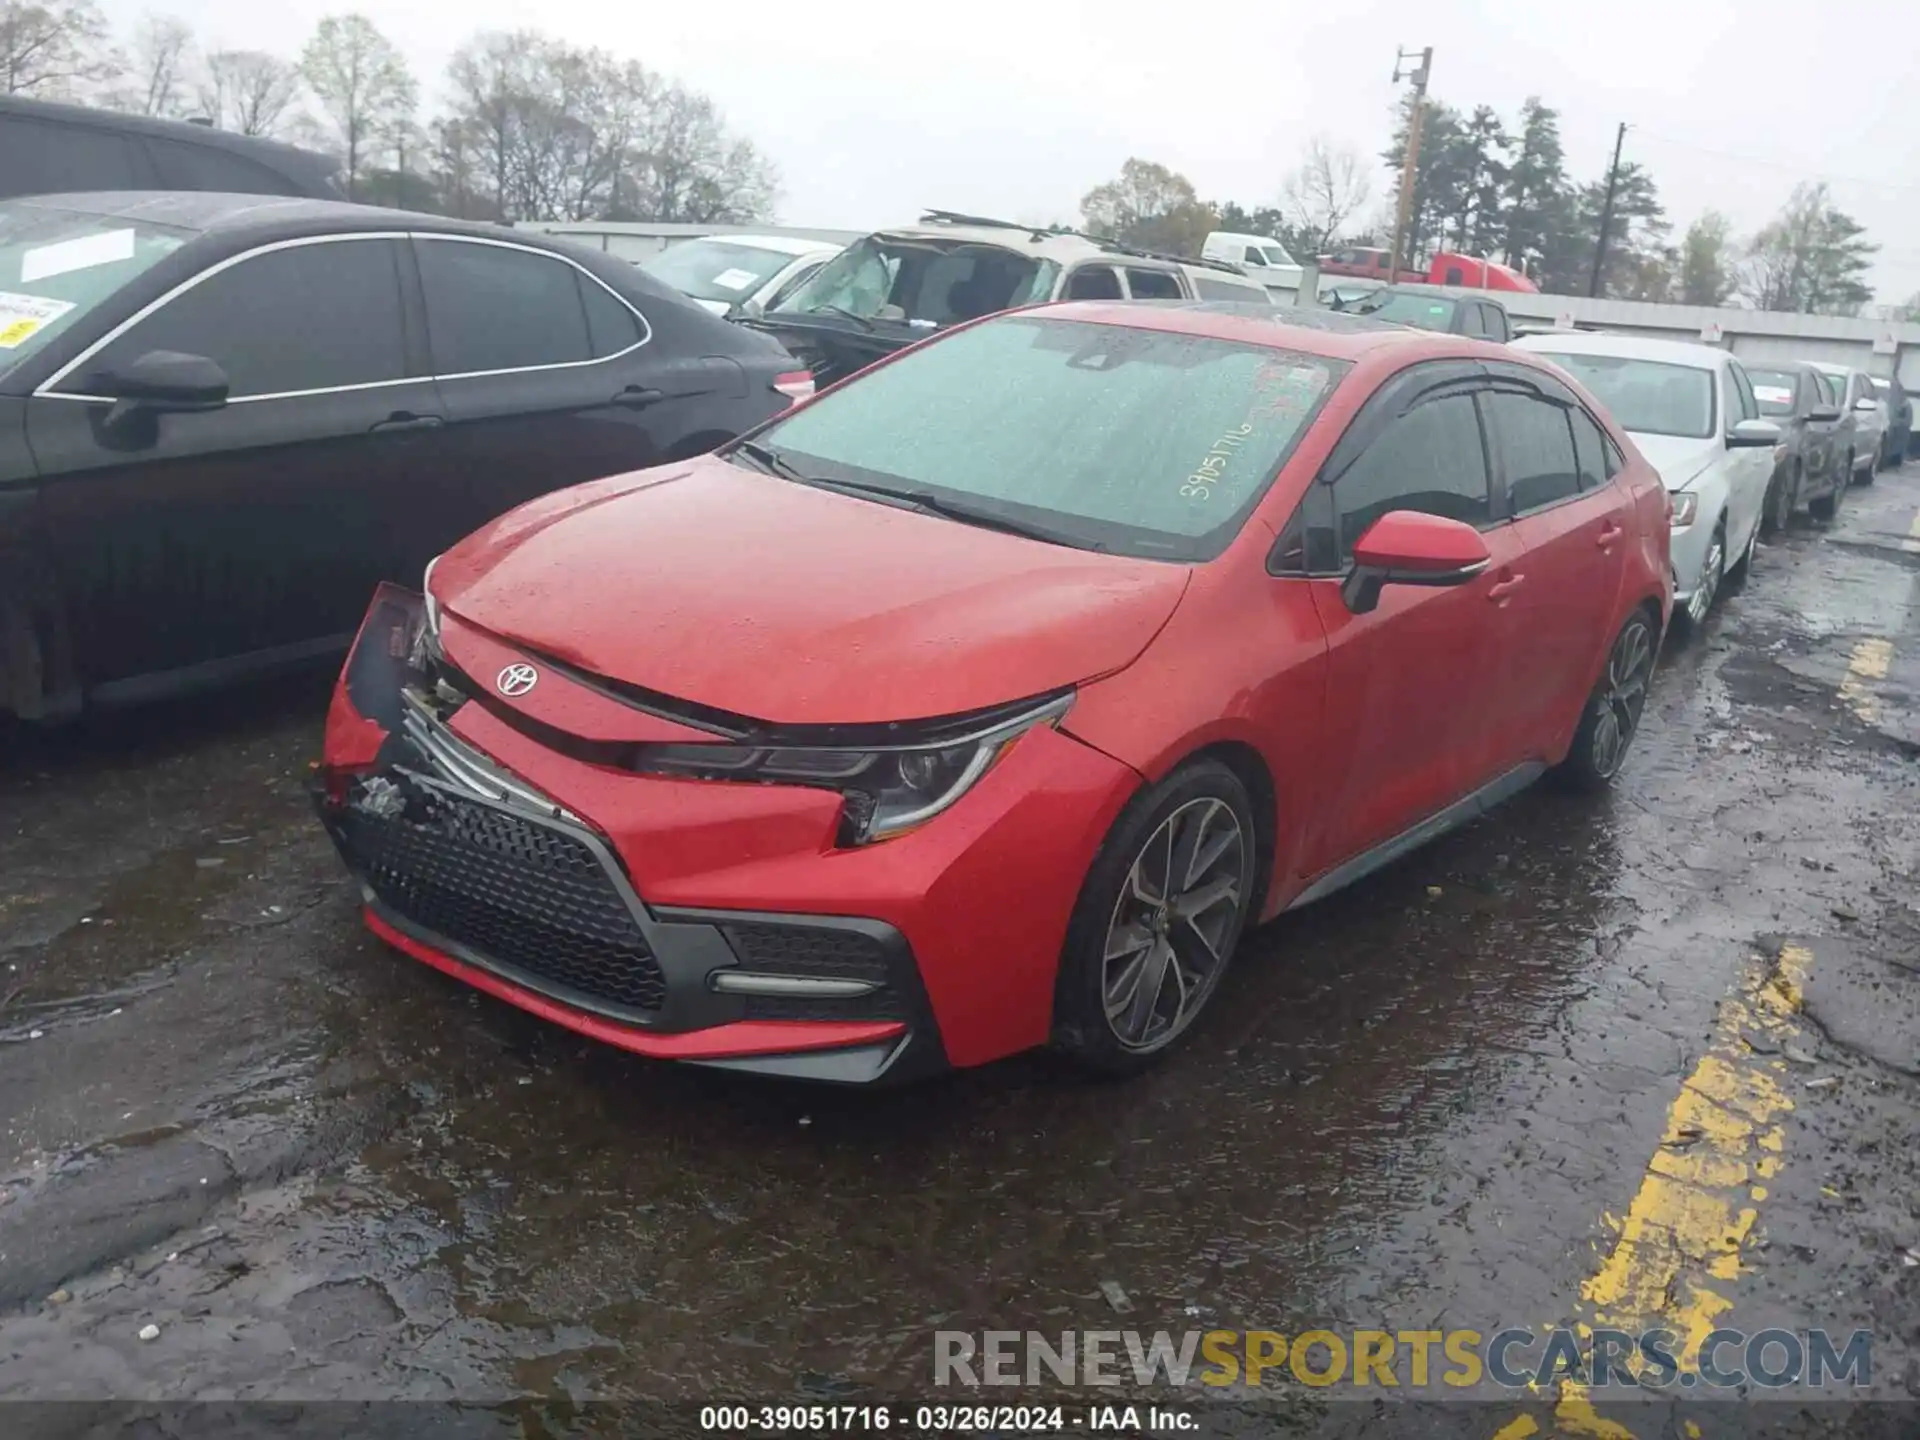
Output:
<path fill-rule="evenodd" d="M 1071 703 L 1071 695 L 1058 695 L 1010 716 L 993 716 L 979 730 L 922 745 L 639 745 L 634 768 L 691 780 L 837 789 L 847 799 L 841 841 L 870 845 L 937 816 L 973 789 L 1016 739 L 1035 726 L 1058 724 Z M 941 730 L 950 732 L 950 726 Z"/>

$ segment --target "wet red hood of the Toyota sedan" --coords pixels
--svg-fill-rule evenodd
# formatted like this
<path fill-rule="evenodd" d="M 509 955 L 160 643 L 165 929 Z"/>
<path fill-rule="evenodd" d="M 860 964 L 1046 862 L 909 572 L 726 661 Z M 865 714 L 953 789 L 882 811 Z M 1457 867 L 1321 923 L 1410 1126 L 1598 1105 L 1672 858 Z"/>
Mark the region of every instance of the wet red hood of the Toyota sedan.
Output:
<path fill-rule="evenodd" d="M 597 676 L 755 720 L 864 724 L 1119 670 L 1187 580 L 703 457 L 522 505 L 447 551 L 432 588 Z"/>

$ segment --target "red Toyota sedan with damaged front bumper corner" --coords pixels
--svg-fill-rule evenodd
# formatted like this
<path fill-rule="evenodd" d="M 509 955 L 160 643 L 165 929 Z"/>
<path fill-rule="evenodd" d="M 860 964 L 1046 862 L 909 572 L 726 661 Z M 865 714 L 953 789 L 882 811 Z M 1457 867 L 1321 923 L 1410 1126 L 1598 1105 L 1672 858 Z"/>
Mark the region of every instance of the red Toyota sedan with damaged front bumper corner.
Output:
<path fill-rule="evenodd" d="M 1511 349 L 1046 305 L 382 591 L 317 801 L 378 935 L 611 1044 L 1125 1071 L 1248 925 L 1549 768 L 1605 785 L 1667 532 Z"/>

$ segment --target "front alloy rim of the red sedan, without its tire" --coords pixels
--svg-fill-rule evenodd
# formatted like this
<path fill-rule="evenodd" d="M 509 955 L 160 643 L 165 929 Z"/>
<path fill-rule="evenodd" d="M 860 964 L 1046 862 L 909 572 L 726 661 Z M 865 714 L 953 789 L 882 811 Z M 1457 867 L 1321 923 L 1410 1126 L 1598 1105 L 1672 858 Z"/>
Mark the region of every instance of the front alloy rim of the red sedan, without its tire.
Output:
<path fill-rule="evenodd" d="M 1246 904 L 1252 845 L 1225 801 L 1200 797 L 1160 822 L 1127 870 L 1106 929 L 1106 1023 L 1129 1050 L 1169 1044 L 1227 970 Z"/>

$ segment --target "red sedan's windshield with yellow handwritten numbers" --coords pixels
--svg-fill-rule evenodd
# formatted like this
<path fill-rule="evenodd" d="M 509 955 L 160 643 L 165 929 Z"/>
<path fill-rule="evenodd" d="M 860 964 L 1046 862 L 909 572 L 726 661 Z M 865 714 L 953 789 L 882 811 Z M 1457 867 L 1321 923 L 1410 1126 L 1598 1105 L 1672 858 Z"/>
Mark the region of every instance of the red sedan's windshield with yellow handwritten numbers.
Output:
<path fill-rule="evenodd" d="M 1348 369 L 1006 317 L 879 365 L 758 440 L 820 480 L 925 492 L 1083 549 L 1196 561 L 1233 540 Z"/>

